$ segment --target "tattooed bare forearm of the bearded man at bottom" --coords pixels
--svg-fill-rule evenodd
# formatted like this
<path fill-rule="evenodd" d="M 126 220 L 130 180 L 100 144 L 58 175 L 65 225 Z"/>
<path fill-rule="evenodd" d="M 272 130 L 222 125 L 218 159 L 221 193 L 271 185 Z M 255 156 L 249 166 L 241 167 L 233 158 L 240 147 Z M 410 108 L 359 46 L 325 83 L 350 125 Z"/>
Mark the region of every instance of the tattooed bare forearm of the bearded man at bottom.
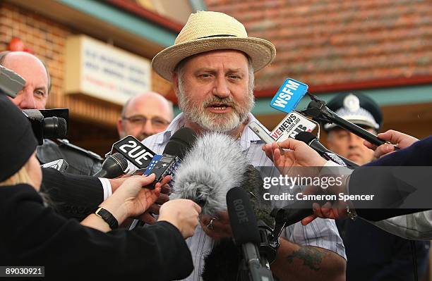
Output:
<path fill-rule="evenodd" d="M 273 275 L 279 280 L 344 281 L 346 261 L 332 251 L 280 239 Z"/>

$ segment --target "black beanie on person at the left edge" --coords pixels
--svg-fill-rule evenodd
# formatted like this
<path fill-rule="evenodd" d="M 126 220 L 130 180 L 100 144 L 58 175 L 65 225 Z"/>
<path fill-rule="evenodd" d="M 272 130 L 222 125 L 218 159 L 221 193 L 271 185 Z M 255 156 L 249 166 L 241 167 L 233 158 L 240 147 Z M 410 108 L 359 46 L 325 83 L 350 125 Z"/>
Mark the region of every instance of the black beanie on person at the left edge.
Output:
<path fill-rule="evenodd" d="M 37 140 L 24 113 L 1 93 L 0 134 L 0 182 L 3 182 L 27 163 Z"/>

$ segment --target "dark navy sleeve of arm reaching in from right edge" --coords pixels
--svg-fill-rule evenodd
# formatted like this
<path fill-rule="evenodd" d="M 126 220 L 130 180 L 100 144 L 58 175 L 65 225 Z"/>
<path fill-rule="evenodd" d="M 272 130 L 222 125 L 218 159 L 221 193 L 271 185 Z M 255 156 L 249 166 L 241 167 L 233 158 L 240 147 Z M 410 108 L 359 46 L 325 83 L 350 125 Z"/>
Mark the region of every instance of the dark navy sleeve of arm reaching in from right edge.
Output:
<path fill-rule="evenodd" d="M 371 168 L 373 166 L 393 168 Z M 378 221 L 425 211 L 426 208 L 398 208 L 410 194 L 409 185 L 401 187 L 404 177 L 407 180 L 415 177 L 417 185 L 412 192 L 430 190 L 430 174 L 421 173 L 415 167 L 399 168 L 410 166 L 432 166 L 432 136 L 354 170 L 349 179 L 349 194 L 375 194 L 373 201 L 353 201 L 356 213 L 366 220 Z M 404 173 L 407 170 L 409 174 Z M 377 202 L 380 206 L 377 206 Z"/>

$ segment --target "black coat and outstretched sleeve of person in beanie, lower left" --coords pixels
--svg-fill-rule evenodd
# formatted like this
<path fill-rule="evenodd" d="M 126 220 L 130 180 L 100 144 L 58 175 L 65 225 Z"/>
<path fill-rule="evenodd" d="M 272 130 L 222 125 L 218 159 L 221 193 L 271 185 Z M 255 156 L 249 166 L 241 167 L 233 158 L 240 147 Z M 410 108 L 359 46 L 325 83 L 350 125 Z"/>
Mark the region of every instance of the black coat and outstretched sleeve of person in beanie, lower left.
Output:
<path fill-rule="evenodd" d="M 46 277 L 141 277 L 177 280 L 193 270 L 179 230 L 166 222 L 100 232 L 42 206 L 28 185 L 1 187 L 0 264 L 45 267 Z M 57 279 L 58 280 L 58 279 Z"/>

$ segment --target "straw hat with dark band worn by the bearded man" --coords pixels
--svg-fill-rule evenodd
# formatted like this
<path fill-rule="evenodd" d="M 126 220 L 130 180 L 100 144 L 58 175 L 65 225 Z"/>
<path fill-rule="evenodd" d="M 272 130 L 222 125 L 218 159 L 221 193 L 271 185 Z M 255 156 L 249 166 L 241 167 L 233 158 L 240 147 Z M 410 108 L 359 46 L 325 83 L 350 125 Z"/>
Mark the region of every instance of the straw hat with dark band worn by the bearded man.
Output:
<path fill-rule="evenodd" d="M 276 56 L 271 42 L 248 37 L 244 25 L 235 18 L 224 13 L 199 11 L 189 16 L 174 45 L 153 58 L 152 68 L 166 80 L 171 80 L 172 72 L 181 60 L 217 49 L 244 51 L 251 58 L 255 71 L 271 63 Z"/>

